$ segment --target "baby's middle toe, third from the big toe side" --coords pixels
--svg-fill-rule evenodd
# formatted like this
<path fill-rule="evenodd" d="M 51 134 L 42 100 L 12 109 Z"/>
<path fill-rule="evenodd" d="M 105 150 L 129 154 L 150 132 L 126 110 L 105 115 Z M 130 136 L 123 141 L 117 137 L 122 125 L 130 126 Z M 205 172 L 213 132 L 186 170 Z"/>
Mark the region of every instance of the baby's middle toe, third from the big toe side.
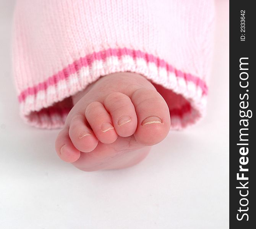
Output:
<path fill-rule="evenodd" d="M 90 103 L 86 107 L 85 116 L 100 142 L 105 144 L 115 142 L 117 133 L 113 127 L 112 119 L 102 103 Z"/>

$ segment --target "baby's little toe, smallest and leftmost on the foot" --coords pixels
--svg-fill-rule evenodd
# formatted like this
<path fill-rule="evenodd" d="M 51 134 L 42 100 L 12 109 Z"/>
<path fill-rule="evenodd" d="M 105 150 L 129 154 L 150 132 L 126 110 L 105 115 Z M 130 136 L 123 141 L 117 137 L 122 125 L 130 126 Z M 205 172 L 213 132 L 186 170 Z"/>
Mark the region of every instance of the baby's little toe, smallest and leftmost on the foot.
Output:
<path fill-rule="evenodd" d="M 80 151 L 73 145 L 68 135 L 68 127 L 60 131 L 55 140 L 55 150 L 58 156 L 66 162 L 75 162 L 80 157 Z"/>

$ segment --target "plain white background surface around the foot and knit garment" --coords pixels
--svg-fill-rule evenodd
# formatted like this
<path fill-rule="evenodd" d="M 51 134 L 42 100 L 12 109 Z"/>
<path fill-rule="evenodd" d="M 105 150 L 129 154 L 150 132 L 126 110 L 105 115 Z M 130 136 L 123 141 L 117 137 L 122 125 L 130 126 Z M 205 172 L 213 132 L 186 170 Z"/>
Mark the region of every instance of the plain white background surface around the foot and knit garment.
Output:
<path fill-rule="evenodd" d="M 207 115 L 142 163 L 86 173 L 54 151 L 58 131 L 21 121 L 11 77 L 14 0 L 0 0 L 0 227 L 228 228 L 228 0 L 218 0 Z"/>

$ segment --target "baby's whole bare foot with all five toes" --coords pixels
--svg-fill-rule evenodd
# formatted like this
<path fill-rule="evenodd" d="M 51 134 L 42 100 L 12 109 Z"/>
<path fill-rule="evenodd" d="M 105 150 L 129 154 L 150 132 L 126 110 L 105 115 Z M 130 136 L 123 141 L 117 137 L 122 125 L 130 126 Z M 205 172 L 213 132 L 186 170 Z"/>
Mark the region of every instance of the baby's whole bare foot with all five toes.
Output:
<path fill-rule="evenodd" d="M 137 164 L 170 129 L 167 103 L 140 74 L 109 74 L 72 99 L 55 149 L 62 160 L 84 171 Z"/>

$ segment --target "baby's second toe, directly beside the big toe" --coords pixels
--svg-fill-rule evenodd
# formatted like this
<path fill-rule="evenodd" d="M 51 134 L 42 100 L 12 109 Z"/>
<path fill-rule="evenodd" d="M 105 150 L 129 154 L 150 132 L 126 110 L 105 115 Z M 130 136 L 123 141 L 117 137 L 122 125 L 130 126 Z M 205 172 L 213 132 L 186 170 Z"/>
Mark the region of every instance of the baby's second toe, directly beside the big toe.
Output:
<path fill-rule="evenodd" d="M 131 99 L 120 92 L 109 94 L 104 106 L 110 113 L 115 131 L 120 137 L 134 134 L 137 127 L 137 116 Z"/>

